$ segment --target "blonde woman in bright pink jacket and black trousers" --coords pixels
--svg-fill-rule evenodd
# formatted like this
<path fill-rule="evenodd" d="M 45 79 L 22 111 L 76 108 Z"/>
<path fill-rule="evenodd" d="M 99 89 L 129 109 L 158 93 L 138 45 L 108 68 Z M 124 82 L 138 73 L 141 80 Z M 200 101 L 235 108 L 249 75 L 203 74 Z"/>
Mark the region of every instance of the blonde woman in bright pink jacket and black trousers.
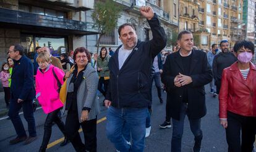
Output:
<path fill-rule="evenodd" d="M 54 67 L 50 64 L 51 59 L 48 54 L 40 53 L 36 58 L 38 62 L 38 70 L 36 74 L 36 98 L 43 111 L 48 114 L 45 120 L 45 132 L 43 135 L 43 141 L 39 151 L 45 151 L 51 137 L 51 127 L 55 122 L 61 132 L 65 135 L 65 140 L 61 143 L 61 146 L 67 144 L 65 125 L 61 118 L 58 116 L 63 104 L 59 99 L 59 83 L 63 83 L 64 72 L 58 67 Z M 58 78 L 58 80 L 57 80 Z"/>

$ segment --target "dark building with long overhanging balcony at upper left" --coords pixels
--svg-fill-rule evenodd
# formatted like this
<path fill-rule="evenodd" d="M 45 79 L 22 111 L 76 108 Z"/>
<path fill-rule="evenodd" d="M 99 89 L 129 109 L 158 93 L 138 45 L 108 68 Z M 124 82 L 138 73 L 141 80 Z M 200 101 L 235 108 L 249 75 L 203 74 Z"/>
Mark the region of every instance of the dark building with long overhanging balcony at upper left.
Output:
<path fill-rule="evenodd" d="M 0 53 L 6 61 L 9 46 L 21 43 L 33 59 L 36 46 L 48 46 L 59 56 L 84 46 L 84 35 L 95 35 L 93 23 L 85 22 L 85 12 L 94 1 L 12 0 L 0 3 Z"/>

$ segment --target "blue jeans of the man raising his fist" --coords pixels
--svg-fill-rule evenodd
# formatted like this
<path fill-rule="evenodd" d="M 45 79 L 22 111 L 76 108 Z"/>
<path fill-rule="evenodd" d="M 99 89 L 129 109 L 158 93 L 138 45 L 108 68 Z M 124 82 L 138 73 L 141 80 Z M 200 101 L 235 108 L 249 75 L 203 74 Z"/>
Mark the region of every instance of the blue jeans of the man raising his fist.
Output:
<path fill-rule="evenodd" d="M 117 150 L 143 151 L 145 142 L 145 125 L 148 108 L 114 108 L 110 106 L 107 113 L 106 135 Z M 122 130 L 126 125 L 132 137 L 132 146 L 127 144 Z"/>

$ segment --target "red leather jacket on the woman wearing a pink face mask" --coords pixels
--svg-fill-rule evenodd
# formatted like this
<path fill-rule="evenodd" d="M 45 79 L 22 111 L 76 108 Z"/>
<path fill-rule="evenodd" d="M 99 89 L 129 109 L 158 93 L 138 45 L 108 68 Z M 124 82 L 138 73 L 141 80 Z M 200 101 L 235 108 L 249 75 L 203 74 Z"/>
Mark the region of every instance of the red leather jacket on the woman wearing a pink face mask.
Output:
<path fill-rule="evenodd" d="M 256 66 L 250 62 L 246 80 L 242 77 L 237 62 L 224 69 L 219 100 L 220 119 L 227 118 L 227 111 L 256 117 Z"/>

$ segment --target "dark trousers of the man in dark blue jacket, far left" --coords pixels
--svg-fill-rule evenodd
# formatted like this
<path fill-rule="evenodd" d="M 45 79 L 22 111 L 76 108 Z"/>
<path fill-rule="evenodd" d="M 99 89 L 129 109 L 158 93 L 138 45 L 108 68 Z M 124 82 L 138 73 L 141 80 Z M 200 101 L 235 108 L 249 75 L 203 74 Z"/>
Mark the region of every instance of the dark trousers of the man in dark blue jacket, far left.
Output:
<path fill-rule="evenodd" d="M 23 109 L 23 116 L 28 123 L 29 135 L 31 137 L 36 137 L 36 127 L 32 100 L 24 100 L 21 103 L 18 103 L 16 99 L 11 99 L 8 116 L 12 120 L 12 124 L 14 125 L 14 129 L 18 137 L 23 137 L 27 135 L 22 124 L 22 120 L 19 116 L 19 111 L 21 108 Z"/>

